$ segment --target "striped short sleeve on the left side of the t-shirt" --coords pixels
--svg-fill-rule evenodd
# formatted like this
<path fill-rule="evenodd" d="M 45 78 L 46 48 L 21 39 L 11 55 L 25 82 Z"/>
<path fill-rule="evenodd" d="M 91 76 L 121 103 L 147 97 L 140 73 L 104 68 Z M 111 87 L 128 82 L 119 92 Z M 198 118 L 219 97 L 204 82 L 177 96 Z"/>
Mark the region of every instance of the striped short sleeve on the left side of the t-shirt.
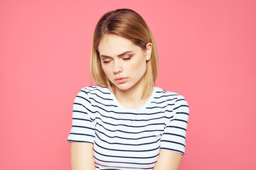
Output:
<path fill-rule="evenodd" d="M 94 143 L 95 125 L 92 105 L 85 89 L 81 89 L 73 103 L 73 120 L 68 142 Z"/>

